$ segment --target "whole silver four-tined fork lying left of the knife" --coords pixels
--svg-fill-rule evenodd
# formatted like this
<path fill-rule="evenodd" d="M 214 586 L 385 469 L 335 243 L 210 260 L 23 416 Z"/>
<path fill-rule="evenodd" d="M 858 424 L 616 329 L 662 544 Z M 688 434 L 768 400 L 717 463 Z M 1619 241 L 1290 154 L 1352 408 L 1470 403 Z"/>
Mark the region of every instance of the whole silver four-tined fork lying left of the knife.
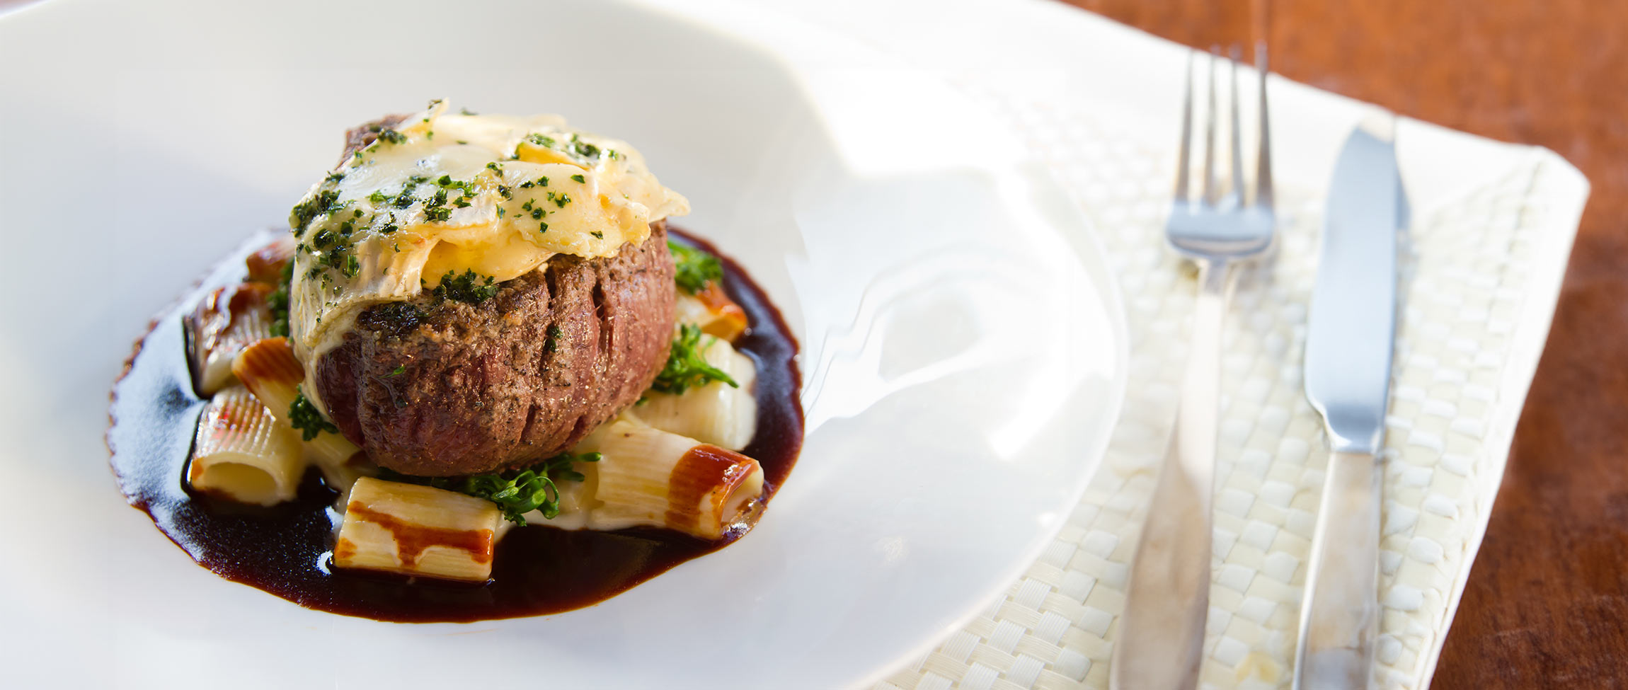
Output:
<path fill-rule="evenodd" d="M 1216 54 L 1210 55 L 1210 107 L 1205 124 L 1203 190 L 1188 192 L 1188 148 L 1193 130 L 1193 54 L 1187 62 L 1187 98 L 1175 174 L 1175 200 L 1166 239 L 1198 265 L 1198 303 L 1182 376 L 1175 430 L 1153 490 L 1136 557 L 1130 568 L 1109 666 L 1115 690 L 1192 688 L 1203 659 L 1205 614 L 1210 610 L 1210 504 L 1214 483 L 1216 407 L 1219 405 L 1221 321 L 1232 288 L 1232 267 L 1265 254 L 1273 241 L 1271 143 L 1267 127 L 1267 47 L 1255 44 L 1260 75 L 1260 146 L 1255 197 L 1245 203 L 1239 142 L 1237 60 L 1232 57 L 1231 184 L 1216 179 Z"/>

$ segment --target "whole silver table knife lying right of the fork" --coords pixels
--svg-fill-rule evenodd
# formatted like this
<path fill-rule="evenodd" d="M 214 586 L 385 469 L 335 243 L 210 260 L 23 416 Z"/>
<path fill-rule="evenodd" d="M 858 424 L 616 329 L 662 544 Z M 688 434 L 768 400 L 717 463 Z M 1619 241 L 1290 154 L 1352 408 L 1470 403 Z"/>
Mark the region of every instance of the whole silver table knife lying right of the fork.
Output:
<path fill-rule="evenodd" d="M 1301 600 L 1294 687 L 1368 687 L 1379 627 L 1377 461 L 1390 399 L 1402 179 L 1394 119 L 1364 122 L 1335 163 L 1306 335 L 1306 397 L 1328 470 Z"/>

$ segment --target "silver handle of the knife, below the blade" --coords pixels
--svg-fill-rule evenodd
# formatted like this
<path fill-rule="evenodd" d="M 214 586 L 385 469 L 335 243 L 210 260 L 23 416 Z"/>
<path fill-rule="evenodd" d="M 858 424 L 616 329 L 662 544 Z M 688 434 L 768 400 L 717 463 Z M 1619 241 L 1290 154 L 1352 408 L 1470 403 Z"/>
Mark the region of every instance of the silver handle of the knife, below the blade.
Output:
<path fill-rule="evenodd" d="M 1379 461 L 1333 452 L 1312 534 L 1296 690 L 1368 688 L 1379 628 Z"/>

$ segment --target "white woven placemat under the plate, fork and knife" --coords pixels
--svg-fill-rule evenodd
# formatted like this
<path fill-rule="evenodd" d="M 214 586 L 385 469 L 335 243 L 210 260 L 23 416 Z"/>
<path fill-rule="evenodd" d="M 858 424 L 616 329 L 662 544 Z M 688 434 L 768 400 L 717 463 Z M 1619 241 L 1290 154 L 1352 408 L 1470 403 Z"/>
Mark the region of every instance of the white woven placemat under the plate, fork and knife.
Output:
<path fill-rule="evenodd" d="M 1061 534 L 1004 597 L 877 687 L 1107 687 L 1195 291 L 1162 242 L 1188 50 L 1053 2 L 778 10 L 947 72 L 1019 130 L 1094 221 L 1131 332 L 1123 418 Z M 1301 391 L 1306 304 L 1335 155 L 1371 112 L 1283 80 L 1271 107 L 1281 246 L 1241 280 L 1224 335 L 1201 670 L 1213 688 L 1291 679 L 1327 462 L 1320 418 Z M 1587 182 L 1550 151 L 1410 120 L 1398 127 L 1398 158 L 1413 228 L 1400 262 L 1376 685 L 1423 688 L 1486 529 Z"/>

